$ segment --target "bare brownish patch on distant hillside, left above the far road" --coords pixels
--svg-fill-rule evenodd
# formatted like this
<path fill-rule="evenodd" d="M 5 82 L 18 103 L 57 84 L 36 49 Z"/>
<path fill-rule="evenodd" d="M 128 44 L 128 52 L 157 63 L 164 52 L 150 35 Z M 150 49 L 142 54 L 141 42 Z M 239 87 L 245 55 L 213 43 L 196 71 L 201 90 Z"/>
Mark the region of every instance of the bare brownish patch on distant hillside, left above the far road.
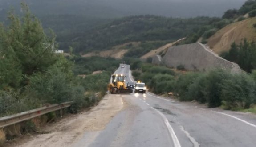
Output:
<path fill-rule="evenodd" d="M 104 51 L 94 51 L 88 54 L 82 55 L 82 57 L 92 57 L 92 56 L 100 56 L 100 57 L 112 57 L 112 58 L 122 58 L 124 54 L 128 51 L 126 46 L 136 46 L 139 43 L 131 42 L 131 43 L 124 43 L 122 45 L 114 46 L 111 50 L 104 50 Z"/>

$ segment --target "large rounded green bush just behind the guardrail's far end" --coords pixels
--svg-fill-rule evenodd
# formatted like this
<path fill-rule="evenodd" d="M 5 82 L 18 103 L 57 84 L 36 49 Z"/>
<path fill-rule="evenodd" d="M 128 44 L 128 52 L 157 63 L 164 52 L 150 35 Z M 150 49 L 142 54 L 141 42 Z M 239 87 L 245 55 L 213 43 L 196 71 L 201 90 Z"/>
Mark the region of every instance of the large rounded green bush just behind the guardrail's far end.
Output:
<path fill-rule="evenodd" d="M 53 68 L 47 73 L 37 73 L 30 78 L 28 90 L 33 98 L 37 98 L 42 103 L 60 104 L 71 101 L 73 97 L 73 87 L 68 74 L 59 68 Z"/>

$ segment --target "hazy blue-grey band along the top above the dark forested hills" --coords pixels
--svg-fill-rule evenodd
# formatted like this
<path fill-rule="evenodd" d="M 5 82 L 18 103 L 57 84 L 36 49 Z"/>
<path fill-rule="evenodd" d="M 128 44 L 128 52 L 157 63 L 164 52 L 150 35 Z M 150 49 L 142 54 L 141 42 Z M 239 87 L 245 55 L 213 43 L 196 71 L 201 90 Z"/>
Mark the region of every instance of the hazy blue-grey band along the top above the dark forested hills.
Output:
<path fill-rule="evenodd" d="M 0 0 L 0 13 L 21 0 Z M 172 17 L 222 16 L 246 0 L 24 0 L 38 15 L 79 14 L 93 17 L 162 15 Z M 1 15 L 1 14 L 0 14 Z"/>

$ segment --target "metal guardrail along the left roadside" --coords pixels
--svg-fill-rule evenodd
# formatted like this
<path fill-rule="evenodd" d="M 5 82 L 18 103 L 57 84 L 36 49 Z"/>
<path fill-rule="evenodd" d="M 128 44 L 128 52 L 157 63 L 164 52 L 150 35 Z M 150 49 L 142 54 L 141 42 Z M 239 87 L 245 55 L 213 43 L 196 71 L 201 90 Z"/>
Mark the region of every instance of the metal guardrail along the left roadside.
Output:
<path fill-rule="evenodd" d="M 68 108 L 72 104 L 72 101 L 61 103 L 61 104 L 52 104 L 50 106 L 45 106 L 26 112 L 17 113 L 11 116 L 0 117 L 0 128 L 7 127 L 12 124 L 17 124 L 25 120 L 30 120 L 32 118 L 44 115 L 49 112 L 60 110 L 63 108 Z"/>

